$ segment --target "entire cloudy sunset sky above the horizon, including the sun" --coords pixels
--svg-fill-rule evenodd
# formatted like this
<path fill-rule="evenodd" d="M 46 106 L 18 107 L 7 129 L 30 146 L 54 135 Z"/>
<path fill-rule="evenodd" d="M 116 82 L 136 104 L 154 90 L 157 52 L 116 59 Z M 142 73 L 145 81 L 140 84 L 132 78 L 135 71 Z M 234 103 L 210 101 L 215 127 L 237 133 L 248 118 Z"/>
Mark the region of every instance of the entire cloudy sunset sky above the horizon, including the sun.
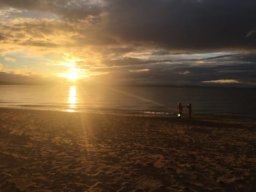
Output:
<path fill-rule="evenodd" d="M 255 0 L 0 0 L 0 82 L 256 87 Z"/>

